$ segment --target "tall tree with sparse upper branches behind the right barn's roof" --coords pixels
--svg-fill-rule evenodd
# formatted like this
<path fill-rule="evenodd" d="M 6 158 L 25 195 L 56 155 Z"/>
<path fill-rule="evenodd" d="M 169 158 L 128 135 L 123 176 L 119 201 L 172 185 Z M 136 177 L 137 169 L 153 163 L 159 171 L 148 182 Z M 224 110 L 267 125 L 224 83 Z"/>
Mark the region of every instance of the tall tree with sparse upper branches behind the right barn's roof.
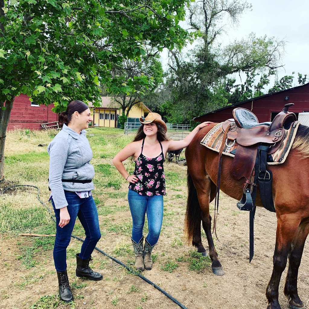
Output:
<path fill-rule="evenodd" d="M 170 51 L 167 83 L 173 109 L 182 111 L 183 121 L 262 92 L 282 66 L 284 41 L 252 33 L 226 46 L 218 43 L 223 20 L 237 25 L 248 10 L 251 4 L 242 0 L 200 0 L 188 8 L 186 19 L 198 35 L 197 44 L 185 57 Z M 235 84 L 232 74 L 239 74 L 242 83 Z"/>

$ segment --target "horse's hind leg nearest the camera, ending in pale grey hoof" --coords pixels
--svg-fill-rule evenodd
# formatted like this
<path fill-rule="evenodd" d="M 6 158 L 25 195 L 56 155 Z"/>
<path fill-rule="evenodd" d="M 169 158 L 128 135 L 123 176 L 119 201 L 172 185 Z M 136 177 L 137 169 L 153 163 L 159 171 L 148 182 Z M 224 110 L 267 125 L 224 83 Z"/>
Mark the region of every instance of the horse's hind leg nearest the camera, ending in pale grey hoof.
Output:
<path fill-rule="evenodd" d="M 214 247 L 214 241 L 211 234 L 211 216 L 209 213 L 209 203 L 215 197 L 215 185 L 207 176 L 205 181 L 194 183 L 197 190 L 197 198 L 201 208 L 202 225 L 207 237 L 209 246 L 209 257 L 212 260 L 211 268 L 215 275 L 224 274 L 222 265 L 218 259 L 218 253 Z"/>

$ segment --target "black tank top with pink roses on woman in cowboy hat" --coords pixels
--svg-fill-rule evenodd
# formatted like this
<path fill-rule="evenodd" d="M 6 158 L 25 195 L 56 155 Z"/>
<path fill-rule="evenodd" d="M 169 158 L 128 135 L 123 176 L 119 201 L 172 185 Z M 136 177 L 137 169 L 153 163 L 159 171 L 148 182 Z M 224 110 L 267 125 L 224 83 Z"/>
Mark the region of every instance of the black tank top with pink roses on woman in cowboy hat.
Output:
<path fill-rule="evenodd" d="M 165 175 L 163 169 L 164 154 L 162 144 L 161 154 L 155 158 L 148 158 L 143 155 L 145 138 L 142 143 L 142 151 L 135 161 L 134 175 L 139 179 L 136 183 L 130 183 L 129 189 L 138 192 L 140 195 L 165 195 Z"/>

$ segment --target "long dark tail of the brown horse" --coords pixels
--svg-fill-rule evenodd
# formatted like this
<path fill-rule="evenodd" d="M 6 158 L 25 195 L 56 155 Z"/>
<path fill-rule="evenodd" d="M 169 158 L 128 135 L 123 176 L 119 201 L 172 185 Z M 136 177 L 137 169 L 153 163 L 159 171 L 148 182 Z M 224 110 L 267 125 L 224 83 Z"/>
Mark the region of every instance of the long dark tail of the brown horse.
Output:
<path fill-rule="evenodd" d="M 187 198 L 187 210 L 185 217 L 185 233 L 188 242 L 193 242 L 193 235 L 201 233 L 201 208 L 197 199 L 197 191 L 194 187 L 192 177 L 188 171 L 187 173 L 188 184 L 188 198 Z M 193 245 L 193 243 L 192 243 Z"/>

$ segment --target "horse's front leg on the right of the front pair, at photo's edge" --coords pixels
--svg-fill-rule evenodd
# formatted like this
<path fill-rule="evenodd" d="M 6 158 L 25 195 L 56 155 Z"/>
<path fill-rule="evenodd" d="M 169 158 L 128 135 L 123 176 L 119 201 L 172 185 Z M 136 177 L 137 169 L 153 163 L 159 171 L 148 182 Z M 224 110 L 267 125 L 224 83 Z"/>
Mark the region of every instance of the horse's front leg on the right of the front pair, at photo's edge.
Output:
<path fill-rule="evenodd" d="M 309 234 L 309 223 L 301 224 L 296 232 L 296 235 L 291 243 L 289 253 L 289 270 L 286 276 L 286 284 L 284 287 L 284 295 L 289 299 L 290 307 L 300 309 L 304 307 L 297 292 L 297 277 L 300 260 L 303 255 L 303 249 L 306 238 Z"/>

